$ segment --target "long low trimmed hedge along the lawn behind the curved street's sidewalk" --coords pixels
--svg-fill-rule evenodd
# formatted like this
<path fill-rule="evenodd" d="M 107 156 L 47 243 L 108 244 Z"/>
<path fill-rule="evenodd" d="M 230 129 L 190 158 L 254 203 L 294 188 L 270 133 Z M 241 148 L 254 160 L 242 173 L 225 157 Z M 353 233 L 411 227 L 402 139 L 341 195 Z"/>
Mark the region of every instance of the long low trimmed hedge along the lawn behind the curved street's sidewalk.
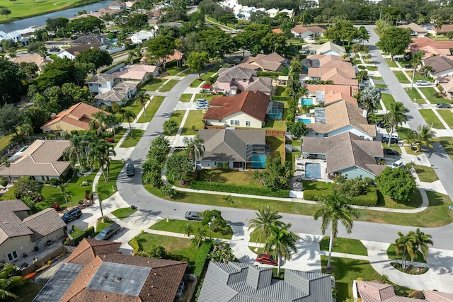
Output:
<path fill-rule="evenodd" d="M 204 182 L 195 180 L 191 181 L 190 185 L 194 190 L 219 191 L 282 198 L 289 197 L 289 190 L 272 190 L 268 187 L 251 187 L 246 185 L 231 185 L 229 183 L 222 182 Z"/>

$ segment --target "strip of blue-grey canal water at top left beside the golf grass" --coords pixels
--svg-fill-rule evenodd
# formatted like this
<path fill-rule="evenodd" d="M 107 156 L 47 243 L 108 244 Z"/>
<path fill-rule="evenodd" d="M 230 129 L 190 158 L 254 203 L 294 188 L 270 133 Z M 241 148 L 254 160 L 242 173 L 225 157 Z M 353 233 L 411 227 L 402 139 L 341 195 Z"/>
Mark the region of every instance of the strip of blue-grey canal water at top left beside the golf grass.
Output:
<path fill-rule="evenodd" d="M 65 9 L 64 11 L 55 11 L 54 13 L 47 13 L 47 15 L 35 16 L 31 18 L 26 18 L 10 23 L 0 24 L 0 30 L 5 33 L 9 33 L 13 30 L 21 30 L 23 28 L 28 28 L 32 25 L 45 25 L 47 18 L 56 18 L 56 17 L 65 17 L 72 18 L 77 15 L 79 11 L 97 11 L 99 8 L 107 7 L 107 4 L 112 2 L 112 0 L 103 0 L 93 4 L 87 4 L 84 6 L 79 6 L 76 8 Z"/>

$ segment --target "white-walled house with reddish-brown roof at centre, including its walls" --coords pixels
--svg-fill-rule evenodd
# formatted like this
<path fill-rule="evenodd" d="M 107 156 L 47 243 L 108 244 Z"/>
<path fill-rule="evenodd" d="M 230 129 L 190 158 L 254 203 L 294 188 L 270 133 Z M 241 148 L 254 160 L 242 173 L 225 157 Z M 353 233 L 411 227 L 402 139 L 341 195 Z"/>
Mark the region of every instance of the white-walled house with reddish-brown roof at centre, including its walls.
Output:
<path fill-rule="evenodd" d="M 269 101 L 270 96 L 260 91 L 220 96 L 211 100 L 203 118 L 210 126 L 262 128 Z"/>

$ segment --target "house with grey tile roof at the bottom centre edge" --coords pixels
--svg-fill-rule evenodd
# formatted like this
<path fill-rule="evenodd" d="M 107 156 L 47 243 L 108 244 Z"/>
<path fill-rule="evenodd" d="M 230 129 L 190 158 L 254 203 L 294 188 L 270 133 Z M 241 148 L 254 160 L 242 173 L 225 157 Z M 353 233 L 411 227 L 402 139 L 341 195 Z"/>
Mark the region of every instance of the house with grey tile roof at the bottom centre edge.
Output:
<path fill-rule="evenodd" d="M 272 269 L 242 262 L 210 262 L 198 302 L 332 301 L 330 274 L 285 269 L 283 280 Z"/>

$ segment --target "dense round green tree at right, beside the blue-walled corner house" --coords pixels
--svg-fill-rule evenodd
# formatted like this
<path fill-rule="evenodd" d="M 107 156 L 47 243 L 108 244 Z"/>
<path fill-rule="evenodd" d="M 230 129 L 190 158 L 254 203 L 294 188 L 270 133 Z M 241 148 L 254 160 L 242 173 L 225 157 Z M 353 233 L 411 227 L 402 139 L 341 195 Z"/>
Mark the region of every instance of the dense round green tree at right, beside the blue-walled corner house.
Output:
<path fill-rule="evenodd" d="M 377 175 L 374 182 L 383 194 L 395 199 L 396 202 L 403 202 L 411 198 L 417 187 L 410 172 L 391 167 L 385 168 L 381 174 Z"/>

